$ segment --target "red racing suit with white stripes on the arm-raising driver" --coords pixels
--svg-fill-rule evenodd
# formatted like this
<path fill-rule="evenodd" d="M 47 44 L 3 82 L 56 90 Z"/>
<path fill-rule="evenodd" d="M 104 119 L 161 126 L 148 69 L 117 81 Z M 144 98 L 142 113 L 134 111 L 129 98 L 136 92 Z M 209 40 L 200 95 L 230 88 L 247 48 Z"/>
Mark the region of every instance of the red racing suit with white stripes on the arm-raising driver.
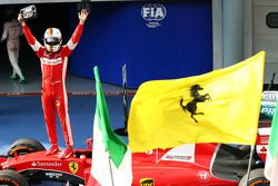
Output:
<path fill-rule="evenodd" d="M 62 46 L 58 52 L 49 55 L 43 46 L 32 36 L 30 29 L 23 26 L 23 32 L 28 43 L 40 59 L 42 72 L 42 109 L 49 141 L 58 144 L 56 130 L 56 110 L 58 112 L 62 134 L 67 147 L 73 146 L 70 118 L 68 112 L 68 96 L 66 90 L 66 75 L 68 58 L 77 46 L 83 25 L 79 23 L 67 45 Z"/>

